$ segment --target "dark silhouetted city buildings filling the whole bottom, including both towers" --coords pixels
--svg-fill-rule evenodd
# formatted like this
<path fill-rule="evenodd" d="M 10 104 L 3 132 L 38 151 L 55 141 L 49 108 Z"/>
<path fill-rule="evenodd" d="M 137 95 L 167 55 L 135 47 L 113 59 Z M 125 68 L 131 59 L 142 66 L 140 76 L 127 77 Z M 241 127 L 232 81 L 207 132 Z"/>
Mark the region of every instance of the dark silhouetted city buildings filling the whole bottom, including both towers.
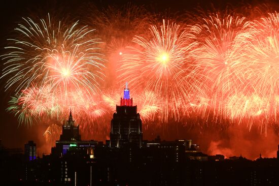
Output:
<path fill-rule="evenodd" d="M 224 159 L 203 154 L 187 139 L 143 140 L 127 87 L 111 127 L 106 144 L 82 141 L 70 112 L 56 147 L 43 158 L 32 141 L 25 155 L 0 143 L 0 185 L 279 185 L 279 157 Z"/>

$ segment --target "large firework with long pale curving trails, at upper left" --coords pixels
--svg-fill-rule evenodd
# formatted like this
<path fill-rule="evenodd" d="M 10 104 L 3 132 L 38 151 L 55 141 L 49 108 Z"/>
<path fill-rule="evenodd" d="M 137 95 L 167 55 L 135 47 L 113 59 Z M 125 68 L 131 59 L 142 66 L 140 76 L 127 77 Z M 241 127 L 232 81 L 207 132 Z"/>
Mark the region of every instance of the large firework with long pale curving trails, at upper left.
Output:
<path fill-rule="evenodd" d="M 53 88 L 71 85 L 89 92 L 98 90 L 103 64 L 94 47 L 99 40 L 90 39 L 93 30 L 78 28 L 78 22 L 70 26 L 54 22 L 50 16 L 39 23 L 23 20 L 15 28 L 18 37 L 9 39 L 9 52 L 2 55 L 7 60 L 2 75 L 8 78 L 6 89 L 15 87 L 20 92 L 32 83 L 50 83 Z"/>

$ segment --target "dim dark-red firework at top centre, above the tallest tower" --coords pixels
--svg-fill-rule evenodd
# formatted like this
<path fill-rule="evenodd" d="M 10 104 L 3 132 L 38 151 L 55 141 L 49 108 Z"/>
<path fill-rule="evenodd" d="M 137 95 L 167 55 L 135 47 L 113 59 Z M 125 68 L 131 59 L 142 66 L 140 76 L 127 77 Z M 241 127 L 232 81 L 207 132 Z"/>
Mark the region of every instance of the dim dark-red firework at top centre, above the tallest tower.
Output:
<path fill-rule="evenodd" d="M 109 6 L 100 11 L 93 9 L 89 14 L 88 22 L 98 28 L 96 32 L 106 44 L 107 55 L 114 53 L 119 44 L 123 46 L 121 44 L 129 43 L 135 34 L 145 35 L 143 30 L 154 17 L 144 7 L 130 3 L 120 8 Z"/>

